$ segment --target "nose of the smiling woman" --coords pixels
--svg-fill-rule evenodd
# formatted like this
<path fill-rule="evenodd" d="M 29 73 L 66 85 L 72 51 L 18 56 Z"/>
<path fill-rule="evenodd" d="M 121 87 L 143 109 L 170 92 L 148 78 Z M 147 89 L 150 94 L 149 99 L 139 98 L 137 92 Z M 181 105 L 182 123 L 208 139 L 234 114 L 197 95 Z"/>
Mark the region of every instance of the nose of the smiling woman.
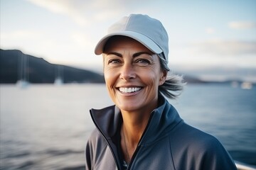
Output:
<path fill-rule="evenodd" d="M 124 79 L 126 81 L 130 81 L 131 79 L 135 79 L 136 72 L 132 64 L 124 64 L 120 71 L 120 79 Z"/>

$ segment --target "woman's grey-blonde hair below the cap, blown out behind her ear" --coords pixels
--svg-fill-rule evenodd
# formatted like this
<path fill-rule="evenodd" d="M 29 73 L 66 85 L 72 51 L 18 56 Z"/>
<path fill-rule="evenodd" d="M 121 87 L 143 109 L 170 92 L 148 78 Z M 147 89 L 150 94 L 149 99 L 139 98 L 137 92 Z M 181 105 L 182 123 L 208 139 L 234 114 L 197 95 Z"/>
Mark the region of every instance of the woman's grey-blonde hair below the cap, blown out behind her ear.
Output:
<path fill-rule="evenodd" d="M 164 84 L 159 86 L 159 91 L 161 94 L 163 94 L 167 98 L 176 99 L 183 91 L 183 86 L 186 83 L 183 82 L 182 76 L 179 76 L 177 74 L 174 74 L 173 72 L 170 72 L 167 62 L 164 59 L 164 54 L 161 53 L 161 54 L 158 54 L 158 56 L 160 60 L 161 69 L 163 69 L 167 73 L 168 72 L 170 73 L 170 74 L 167 74 L 166 81 L 164 82 Z"/>

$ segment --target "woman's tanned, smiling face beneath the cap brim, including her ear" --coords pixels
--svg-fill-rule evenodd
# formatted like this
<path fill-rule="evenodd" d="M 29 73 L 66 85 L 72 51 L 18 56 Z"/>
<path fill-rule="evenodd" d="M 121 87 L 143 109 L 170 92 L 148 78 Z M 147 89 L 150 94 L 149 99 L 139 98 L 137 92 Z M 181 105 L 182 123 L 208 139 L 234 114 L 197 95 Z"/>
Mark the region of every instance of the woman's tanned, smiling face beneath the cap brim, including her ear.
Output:
<path fill-rule="evenodd" d="M 166 78 L 157 55 L 119 36 L 107 42 L 103 61 L 107 90 L 121 111 L 151 112 L 157 107 L 158 87 Z"/>

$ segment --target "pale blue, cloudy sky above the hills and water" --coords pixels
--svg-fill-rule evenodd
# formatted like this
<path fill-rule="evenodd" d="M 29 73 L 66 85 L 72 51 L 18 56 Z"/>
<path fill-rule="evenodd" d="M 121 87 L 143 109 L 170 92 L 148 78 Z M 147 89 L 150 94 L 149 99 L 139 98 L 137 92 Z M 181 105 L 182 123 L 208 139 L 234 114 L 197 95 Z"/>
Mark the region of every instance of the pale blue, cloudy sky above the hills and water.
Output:
<path fill-rule="evenodd" d="M 256 82 L 255 0 L 0 0 L 0 47 L 101 71 L 95 45 L 130 13 L 163 23 L 172 70 Z"/>

